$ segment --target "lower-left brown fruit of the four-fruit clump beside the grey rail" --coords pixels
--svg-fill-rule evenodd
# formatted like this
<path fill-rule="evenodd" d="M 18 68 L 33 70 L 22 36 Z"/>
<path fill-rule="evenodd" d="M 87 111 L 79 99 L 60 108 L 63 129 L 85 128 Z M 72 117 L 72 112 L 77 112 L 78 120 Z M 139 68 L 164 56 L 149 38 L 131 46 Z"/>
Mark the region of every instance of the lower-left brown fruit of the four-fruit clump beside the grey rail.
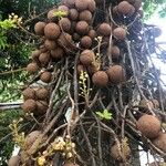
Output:
<path fill-rule="evenodd" d="M 33 113 L 37 110 L 37 103 L 34 100 L 27 100 L 21 107 L 25 113 Z"/>

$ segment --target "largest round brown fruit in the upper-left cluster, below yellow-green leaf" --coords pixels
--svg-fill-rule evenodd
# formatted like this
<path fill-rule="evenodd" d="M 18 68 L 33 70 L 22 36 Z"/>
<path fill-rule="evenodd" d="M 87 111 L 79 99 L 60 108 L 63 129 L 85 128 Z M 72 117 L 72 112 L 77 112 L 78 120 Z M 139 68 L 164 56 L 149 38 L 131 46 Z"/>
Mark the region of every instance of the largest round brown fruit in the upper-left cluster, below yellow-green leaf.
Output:
<path fill-rule="evenodd" d="M 61 33 L 61 30 L 56 23 L 48 23 L 44 28 L 45 38 L 50 40 L 58 39 L 60 33 Z"/>

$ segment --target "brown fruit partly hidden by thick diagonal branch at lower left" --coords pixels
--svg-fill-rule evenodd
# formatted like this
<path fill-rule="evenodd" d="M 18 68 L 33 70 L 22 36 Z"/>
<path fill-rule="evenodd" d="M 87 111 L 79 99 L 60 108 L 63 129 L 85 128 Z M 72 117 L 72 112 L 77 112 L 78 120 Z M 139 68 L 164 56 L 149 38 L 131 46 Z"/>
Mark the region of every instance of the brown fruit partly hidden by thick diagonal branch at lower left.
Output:
<path fill-rule="evenodd" d="M 30 149 L 33 143 L 37 141 L 37 138 L 41 135 L 40 131 L 33 131 L 30 134 L 27 135 L 24 139 L 24 147 L 25 149 Z"/>

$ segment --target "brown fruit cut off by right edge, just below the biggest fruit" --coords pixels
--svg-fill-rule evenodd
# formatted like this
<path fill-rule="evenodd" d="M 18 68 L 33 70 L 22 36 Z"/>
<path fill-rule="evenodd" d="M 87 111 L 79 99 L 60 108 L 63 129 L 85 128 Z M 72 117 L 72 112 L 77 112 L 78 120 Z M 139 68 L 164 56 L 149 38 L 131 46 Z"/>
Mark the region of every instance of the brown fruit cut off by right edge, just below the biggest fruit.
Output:
<path fill-rule="evenodd" d="M 153 144 L 166 153 L 166 133 L 159 133 L 158 137 L 153 141 Z"/>

